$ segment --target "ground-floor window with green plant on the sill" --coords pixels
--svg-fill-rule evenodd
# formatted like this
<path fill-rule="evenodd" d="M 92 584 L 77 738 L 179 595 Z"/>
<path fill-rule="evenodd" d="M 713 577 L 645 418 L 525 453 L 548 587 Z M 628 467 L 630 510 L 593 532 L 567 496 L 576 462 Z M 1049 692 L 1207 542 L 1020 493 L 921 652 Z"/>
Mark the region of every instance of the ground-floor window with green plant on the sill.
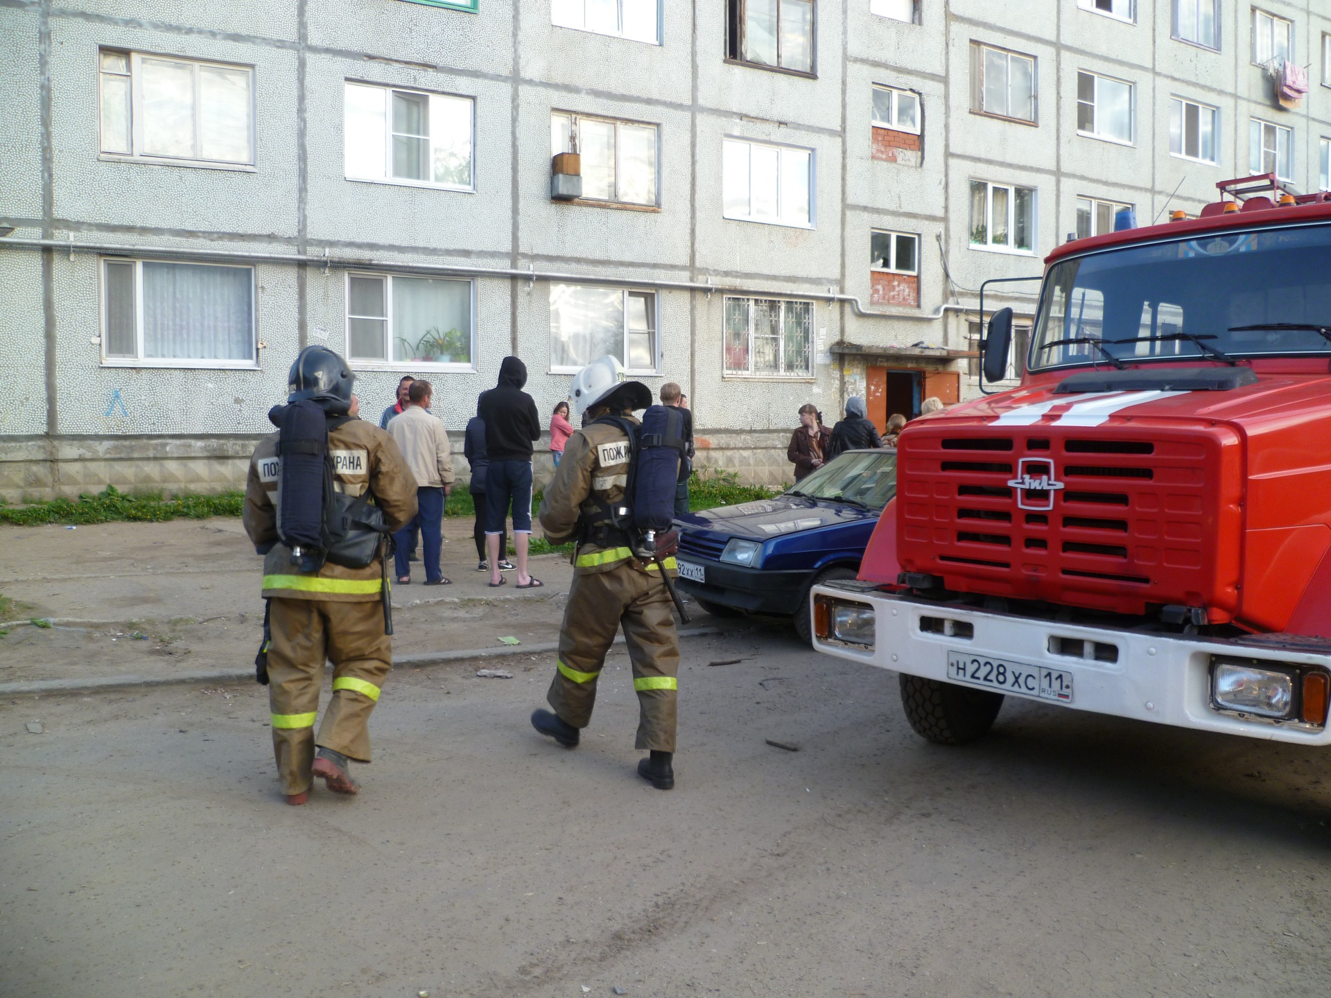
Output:
<path fill-rule="evenodd" d="M 347 355 L 362 363 L 471 370 L 471 281 L 347 274 Z"/>

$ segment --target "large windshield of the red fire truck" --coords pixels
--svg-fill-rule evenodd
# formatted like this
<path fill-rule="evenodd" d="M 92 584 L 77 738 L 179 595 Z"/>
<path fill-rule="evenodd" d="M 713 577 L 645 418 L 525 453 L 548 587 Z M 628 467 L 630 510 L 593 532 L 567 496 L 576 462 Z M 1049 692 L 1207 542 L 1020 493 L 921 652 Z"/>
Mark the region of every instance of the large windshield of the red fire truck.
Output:
<path fill-rule="evenodd" d="M 1323 224 L 1225 232 L 1054 263 L 1030 369 L 1327 353 L 1331 225 Z"/>

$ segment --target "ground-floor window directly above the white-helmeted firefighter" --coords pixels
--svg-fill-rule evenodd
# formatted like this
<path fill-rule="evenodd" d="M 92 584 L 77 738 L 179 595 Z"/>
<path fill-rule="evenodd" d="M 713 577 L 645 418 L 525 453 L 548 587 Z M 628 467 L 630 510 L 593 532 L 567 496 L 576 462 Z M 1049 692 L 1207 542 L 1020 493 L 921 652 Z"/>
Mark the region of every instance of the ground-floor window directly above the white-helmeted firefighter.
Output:
<path fill-rule="evenodd" d="M 550 370 L 579 371 L 607 354 L 630 371 L 656 371 L 656 295 L 550 285 Z"/>

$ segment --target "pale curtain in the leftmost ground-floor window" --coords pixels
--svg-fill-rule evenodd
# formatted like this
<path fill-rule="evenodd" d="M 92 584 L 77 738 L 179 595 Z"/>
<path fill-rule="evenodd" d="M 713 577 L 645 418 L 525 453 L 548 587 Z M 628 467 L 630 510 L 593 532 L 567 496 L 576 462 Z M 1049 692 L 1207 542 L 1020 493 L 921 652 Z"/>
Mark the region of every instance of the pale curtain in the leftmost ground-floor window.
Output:
<path fill-rule="evenodd" d="M 144 357 L 254 359 L 254 271 L 144 263 Z"/>

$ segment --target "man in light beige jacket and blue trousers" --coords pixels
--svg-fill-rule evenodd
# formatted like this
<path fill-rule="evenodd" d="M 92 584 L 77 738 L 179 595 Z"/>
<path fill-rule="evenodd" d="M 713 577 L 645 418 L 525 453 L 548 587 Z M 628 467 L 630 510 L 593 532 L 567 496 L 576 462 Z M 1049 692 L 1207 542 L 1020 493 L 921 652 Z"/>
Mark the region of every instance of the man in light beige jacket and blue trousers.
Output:
<path fill-rule="evenodd" d="M 439 568 L 439 554 L 443 547 L 443 502 L 453 490 L 453 448 L 443 423 L 430 415 L 433 395 L 430 382 L 411 382 L 407 407 L 401 415 L 389 420 L 389 434 L 415 476 L 419 510 L 415 518 L 394 535 L 398 546 L 394 567 L 399 585 L 411 582 L 407 548 L 415 540 L 418 527 L 425 547 L 425 584 L 449 585 L 453 582 L 443 578 L 443 571 Z"/>

